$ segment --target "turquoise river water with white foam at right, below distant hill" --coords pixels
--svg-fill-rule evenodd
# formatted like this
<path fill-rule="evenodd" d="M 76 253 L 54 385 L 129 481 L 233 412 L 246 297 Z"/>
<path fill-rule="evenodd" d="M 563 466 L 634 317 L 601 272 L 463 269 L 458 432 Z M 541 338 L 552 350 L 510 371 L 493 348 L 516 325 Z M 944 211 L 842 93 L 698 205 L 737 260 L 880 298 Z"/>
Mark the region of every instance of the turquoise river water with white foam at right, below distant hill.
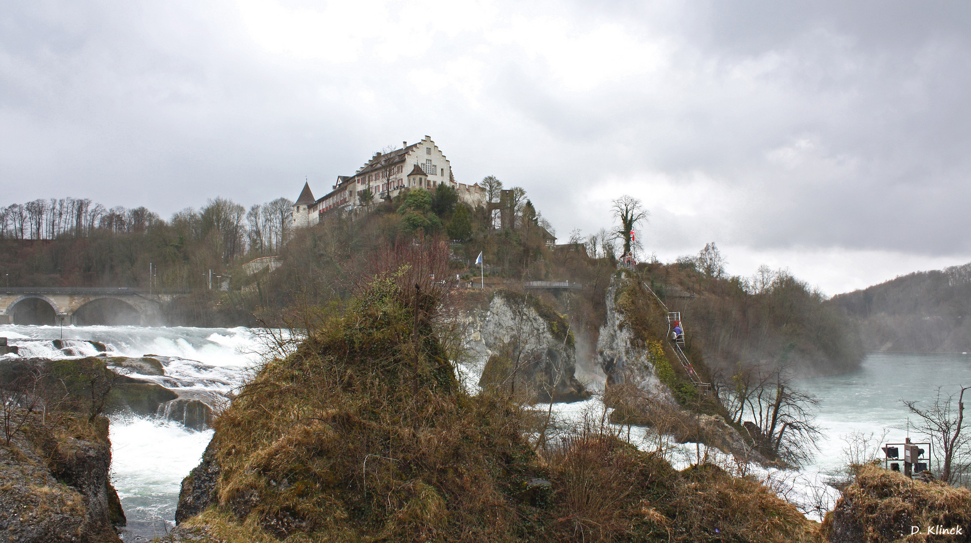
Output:
<path fill-rule="evenodd" d="M 874 353 L 853 373 L 795 384 L 820 400 L 817 422 L 825 437 L 818 443 L 820 452 L 814 464 L 829 470 L 843 464 L 843 437 L 854 431 L 879 437 L 886 429 L 887 442 L 902 442 L 908 435 L 908 416 L 913 420 L 913 415 L 900 400 L 920 400 L 926 405 L 936 397 L 938 387 L 947 396 L 961 386 L 971 386 L 971 356 Z M 913 427 L 910 437 L 923 440 Z"/>

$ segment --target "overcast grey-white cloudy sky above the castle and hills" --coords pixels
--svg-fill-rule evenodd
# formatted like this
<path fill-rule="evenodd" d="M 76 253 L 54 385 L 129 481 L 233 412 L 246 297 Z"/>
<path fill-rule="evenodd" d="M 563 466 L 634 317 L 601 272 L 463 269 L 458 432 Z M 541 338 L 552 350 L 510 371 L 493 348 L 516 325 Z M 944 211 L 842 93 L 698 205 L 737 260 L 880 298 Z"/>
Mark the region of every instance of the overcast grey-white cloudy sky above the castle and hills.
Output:
<path fill-rule="evenodd" d="M 0 1 L 0 205 L 322 196 L 429 135 L 557 236 L 836 294 L 971 261 L 971 8 L 918 2 Z"/>

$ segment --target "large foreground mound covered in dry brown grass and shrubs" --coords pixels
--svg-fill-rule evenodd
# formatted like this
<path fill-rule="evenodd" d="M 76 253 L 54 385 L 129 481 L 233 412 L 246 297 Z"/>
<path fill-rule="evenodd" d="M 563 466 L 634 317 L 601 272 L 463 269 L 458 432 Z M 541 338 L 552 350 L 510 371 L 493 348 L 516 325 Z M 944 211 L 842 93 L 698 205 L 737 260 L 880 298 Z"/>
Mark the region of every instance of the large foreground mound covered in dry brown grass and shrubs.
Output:
<path fill-rule="evenodd" d="M 595 421 L 537 440 L 519 398 L 470 395 L 429 272 L 374 275 L 262 367 L 216 421 L 212 488 L 184 483 L 210 501 L 170 541 L 818 540 L 751 480 L 678 472 Z"/>

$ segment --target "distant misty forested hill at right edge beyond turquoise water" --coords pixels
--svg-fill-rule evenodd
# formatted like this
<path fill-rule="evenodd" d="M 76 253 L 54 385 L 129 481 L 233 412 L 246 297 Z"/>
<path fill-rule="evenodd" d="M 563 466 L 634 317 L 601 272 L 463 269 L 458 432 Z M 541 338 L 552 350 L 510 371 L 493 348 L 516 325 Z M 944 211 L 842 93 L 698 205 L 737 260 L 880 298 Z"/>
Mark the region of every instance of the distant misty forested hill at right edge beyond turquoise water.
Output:
<path fill-rule="evenodd" d="M 971 351 L 971 264 L 908 273 L 829 302 L 867 351 Z"/>

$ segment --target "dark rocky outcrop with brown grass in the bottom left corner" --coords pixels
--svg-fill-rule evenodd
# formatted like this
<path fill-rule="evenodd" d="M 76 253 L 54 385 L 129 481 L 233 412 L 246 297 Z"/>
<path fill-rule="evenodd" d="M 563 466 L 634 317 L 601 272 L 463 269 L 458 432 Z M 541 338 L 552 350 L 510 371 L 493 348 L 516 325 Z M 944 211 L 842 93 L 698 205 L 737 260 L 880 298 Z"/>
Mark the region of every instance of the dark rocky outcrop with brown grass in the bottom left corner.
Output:
<path fill-rule="evenodd" d="M 52 417 L 49 417 L 49 421 Z M 124 513 L 109 480 L 108 420 L 40 416 L 0 439 L 0 533 L 17 543 L 120 541 Z"/>

